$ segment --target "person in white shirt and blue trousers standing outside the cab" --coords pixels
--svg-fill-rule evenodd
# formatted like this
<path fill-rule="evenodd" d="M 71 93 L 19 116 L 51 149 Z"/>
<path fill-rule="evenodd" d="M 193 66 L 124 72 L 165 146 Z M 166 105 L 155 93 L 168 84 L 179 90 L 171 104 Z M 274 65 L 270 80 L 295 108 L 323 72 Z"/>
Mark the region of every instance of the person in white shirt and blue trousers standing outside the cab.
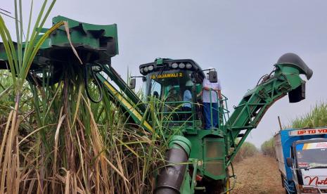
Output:
<path fill-rule="evenodd" d="M 213 67 L 209 67 L 210 71 L 214 70 Z M 222 86 L 218 79 L 218 82 L 212 83 L 209 81 L 209 75 L 203 79 L 203 113 L 205 117 L 205 129 L 211 129 L 212 127 L 218 127 L 218 101 L 222 100 Z M 210 109 L 211 103 L 211 109 Z M 212 123 L 211 123 L 212 112 Z"/>

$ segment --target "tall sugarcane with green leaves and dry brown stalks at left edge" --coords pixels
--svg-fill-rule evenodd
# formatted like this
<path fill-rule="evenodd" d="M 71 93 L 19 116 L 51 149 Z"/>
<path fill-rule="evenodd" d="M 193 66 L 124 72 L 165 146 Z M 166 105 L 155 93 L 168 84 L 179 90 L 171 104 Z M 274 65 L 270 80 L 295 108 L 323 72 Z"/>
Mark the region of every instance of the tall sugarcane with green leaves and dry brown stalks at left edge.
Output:
<path fill-rule="evenodd" d="M 23 39 L 23 7 L 22 1 L 14 1 L 15 4 L 15 34 L 16 42 L 13 42 L 13 38 L 6 27 L 4 18 L 0 15 L 0 36 L 3 41 L 4 48 L 6 50 L 6 56 L 8 57 L 8 69 L 11 72 L 11 81 L 13 83 L 11 87 L 11 95 L 15 96 L 14 105 L 11 108 L 7 121 L 6 128 L 2 134 L 2 142 L 0 149 L 0 164 L 1 164 L 1 185 L 0 193 L 18 193 L 20 185 L 20 156 L 18 149 L 18 128 L 22 122 L 20 117 L 20 101 L 23 94 L 23 86 L 27 77 L 30 65 L 34 56 L 41 44 L 43 44 L 46 37 L 55 30 L 58 24 L 53 26 L 44 34 L 40 35 L 40 30 L 44 25 L 44 22 L 49 16 L 51 9 L 55 4 L 55 0 L 48 4 L 44 1 L 39 15 L 37 17 L 34 26 L 32 26 L 32 11 L 33 4 L 30 6 L 30 18 L 28 20 L 27 35 L 25 40 Z M 49 6 L 46 8 L 46 6 Z"/>

